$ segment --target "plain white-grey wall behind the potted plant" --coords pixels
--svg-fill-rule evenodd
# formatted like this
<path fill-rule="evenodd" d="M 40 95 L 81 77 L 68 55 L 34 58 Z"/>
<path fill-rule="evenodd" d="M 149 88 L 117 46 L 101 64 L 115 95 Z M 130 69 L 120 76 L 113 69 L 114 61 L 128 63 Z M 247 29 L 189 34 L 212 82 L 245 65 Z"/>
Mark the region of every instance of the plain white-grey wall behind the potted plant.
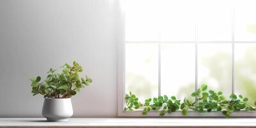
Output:
<path fill-rule="evenodd" d="M 72 97 L 75 117 L 117 116 L 118 2 L 0 1 L 0 117 L 41 116 L 29 77 L 76 60 L 92 77 Z"/>

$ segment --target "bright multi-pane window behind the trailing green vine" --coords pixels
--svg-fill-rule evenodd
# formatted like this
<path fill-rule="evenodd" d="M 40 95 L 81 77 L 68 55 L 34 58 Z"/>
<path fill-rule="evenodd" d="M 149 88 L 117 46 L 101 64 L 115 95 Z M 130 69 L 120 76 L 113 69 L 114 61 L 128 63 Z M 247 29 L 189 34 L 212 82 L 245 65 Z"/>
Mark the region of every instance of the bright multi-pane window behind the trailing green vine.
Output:
<path fill-rule="evenodd" d="M 256 100 L 256 1 L 123 2 L 122 97 L 131 91 L 142 102 L 158 95 L 183 99 L 207 83 L 226 97 L 237 93 L 250 104 Z M 140 115 L 122 113 L 123 100 L 118 99 L 118 115 Z"/>

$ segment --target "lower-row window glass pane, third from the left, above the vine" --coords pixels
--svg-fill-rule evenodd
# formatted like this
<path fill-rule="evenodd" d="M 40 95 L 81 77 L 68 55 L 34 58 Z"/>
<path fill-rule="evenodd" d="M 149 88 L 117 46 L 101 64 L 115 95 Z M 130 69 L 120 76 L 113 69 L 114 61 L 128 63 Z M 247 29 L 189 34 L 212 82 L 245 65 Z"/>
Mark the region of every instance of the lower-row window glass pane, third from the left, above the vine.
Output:
<path fill-rule="evenodd" d="M 232 44 L 198 44 L 198 86 L 232 93 Z"/>

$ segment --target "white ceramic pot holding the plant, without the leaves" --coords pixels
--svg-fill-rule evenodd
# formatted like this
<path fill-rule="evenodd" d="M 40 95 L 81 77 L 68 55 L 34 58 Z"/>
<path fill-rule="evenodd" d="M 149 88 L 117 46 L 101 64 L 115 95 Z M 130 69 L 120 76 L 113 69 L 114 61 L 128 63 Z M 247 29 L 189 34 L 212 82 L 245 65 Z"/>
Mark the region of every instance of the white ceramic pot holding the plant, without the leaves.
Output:
<path fill-rule="evenodd" d="M 50 122 L 65 122 L 73 115 L 71 99 L 44 99 L 42 115 Z"/>

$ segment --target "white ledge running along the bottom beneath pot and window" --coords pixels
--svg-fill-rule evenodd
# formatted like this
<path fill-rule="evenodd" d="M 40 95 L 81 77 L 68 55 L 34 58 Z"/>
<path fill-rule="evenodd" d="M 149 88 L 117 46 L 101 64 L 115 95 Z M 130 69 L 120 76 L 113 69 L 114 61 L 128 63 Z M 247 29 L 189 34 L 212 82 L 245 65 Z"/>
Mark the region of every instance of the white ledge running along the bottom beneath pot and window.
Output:
<path fill-rule="evenodd" d="M 0 118 L 0 127 L 256 127 L 256 118 Z"/>

